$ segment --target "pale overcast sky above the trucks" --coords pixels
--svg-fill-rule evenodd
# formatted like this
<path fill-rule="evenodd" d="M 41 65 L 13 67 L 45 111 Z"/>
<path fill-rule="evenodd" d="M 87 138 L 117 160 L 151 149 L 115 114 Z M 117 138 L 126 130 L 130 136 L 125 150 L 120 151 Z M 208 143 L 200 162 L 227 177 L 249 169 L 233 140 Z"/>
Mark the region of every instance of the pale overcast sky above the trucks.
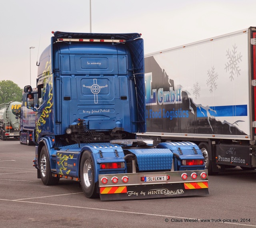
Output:
<path fill-rule="evenodd" d="M 255 0 L 91 0 L 93 33 L 142 33 L 145 54 L 256 26 Z M 36 87 L 51 31 L 90 32 L 90 0 L 12 0 L 0 7 L 0 81 Z M 30 47 L 34 46 L 34 49 Z"/>

